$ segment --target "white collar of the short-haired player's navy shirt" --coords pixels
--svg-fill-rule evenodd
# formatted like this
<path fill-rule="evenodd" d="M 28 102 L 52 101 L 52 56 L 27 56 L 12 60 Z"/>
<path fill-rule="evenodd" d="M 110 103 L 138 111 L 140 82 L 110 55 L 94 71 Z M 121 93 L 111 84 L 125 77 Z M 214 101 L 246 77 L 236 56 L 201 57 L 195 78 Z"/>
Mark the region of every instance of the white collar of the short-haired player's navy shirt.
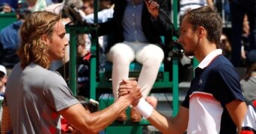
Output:
<path fill-rule="evenodd" d="M 210 54 L 204 57 L 204 60 L 202 60 L 201 63 L 199 63 L 198 68 L 206 68 L 213 61 L 213 59 L 220 54 L 222 54 L 222 49 L 216 49 L 210 52 Z"/>

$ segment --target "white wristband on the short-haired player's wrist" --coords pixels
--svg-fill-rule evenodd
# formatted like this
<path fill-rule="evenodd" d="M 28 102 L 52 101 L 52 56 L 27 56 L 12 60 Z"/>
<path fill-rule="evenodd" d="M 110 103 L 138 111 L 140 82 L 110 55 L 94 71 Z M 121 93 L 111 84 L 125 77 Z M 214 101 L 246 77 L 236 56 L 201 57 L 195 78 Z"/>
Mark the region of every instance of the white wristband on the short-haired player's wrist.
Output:
<path fill-rule="evenodd" d="M 138 105 L 135 106 L 135 109 L 140 112 L 144 118 L 149 118 L 153 112 L 153 106 L 147 103 L 144 98 L 139 99 Z"/>

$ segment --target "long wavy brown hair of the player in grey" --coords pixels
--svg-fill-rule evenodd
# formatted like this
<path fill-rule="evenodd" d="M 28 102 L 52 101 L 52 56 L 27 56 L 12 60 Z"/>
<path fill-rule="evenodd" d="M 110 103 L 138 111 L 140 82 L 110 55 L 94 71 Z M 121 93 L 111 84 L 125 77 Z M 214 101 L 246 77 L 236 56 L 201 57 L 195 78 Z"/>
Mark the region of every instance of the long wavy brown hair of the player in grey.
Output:
<path fill-rule="evenodd" d="M 46 35 L 52 39 L 53 26 L 59 20 L 61 16 L 47 11 L 34 12 L 28 16 L 20 29 L 22 42 L 17 51 L 22 68 L 30 63 L 49 68 L 47 47 L 41 36 Z"/>

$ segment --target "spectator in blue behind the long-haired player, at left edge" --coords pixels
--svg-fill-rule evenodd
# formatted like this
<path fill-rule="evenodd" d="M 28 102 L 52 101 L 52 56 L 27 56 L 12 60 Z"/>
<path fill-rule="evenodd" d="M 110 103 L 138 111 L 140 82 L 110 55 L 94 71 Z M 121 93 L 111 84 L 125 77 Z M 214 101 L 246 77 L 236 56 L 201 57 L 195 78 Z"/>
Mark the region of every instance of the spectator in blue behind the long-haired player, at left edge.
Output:
<path fill-rule="evenodd" d="M 18 21 L 13 22 L 0 31 L 0 64 L 7 68 L 12 68 L 19 62 L 16 50 L 19 47 L 19 27 L 24 22 L 28 13 L 28 9 L 17 9 L 16 17 Z"/>

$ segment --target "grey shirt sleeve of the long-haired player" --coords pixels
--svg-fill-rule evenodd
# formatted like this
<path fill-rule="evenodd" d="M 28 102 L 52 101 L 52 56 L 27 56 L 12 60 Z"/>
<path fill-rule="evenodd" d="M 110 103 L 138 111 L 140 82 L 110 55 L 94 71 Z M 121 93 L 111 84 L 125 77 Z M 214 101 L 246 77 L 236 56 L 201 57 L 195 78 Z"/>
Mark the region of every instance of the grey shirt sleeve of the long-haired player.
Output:
<path fill-rule="evenodd" d="M 49 74 L 47 77 L 44 83 L 43 95 L 46 100 L 49 101 L 50 106 L 56 111 L 79 103 L 79 101 L 73 97 L 63 77 L 56 72 Z"/>

